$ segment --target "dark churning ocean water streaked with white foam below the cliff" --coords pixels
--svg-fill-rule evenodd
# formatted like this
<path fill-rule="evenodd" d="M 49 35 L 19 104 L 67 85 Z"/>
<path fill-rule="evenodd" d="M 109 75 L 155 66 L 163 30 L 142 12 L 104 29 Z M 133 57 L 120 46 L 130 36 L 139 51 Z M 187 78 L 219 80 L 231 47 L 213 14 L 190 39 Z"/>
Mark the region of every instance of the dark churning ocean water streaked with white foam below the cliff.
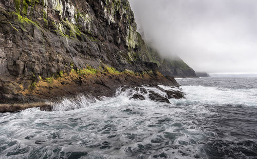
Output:
<path fill-rule="evenodd" d="M 0 158 L 257 158 L 257 78 L 177 81 L 171 104 L 118 90 L 0 113 Z"/>

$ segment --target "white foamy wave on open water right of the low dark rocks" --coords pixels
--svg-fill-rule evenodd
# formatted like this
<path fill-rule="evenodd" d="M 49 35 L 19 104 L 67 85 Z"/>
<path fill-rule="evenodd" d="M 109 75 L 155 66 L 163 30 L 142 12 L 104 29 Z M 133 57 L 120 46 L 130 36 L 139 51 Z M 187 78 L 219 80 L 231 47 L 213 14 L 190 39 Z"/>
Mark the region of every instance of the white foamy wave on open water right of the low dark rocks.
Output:
<path fill-rule="evenodd" d="M 188 104 L 240 104 L 257 106 L 257 89 L 230 89 L 207 86 L 182 86 L 186 99 L 172 100 L 173 103 Z"/>

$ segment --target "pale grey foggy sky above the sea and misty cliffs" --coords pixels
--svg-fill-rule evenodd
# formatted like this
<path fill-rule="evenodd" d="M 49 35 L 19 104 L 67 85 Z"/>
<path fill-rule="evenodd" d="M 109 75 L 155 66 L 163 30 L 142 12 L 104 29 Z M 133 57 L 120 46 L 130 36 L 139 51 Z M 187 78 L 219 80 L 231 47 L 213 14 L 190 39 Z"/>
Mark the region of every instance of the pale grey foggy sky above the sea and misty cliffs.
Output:
<path fill-rule="evenodd" d="M 129 0 L 137 28 L 163 57 L 195 71 L 257 73 L 256 0 Z"/>

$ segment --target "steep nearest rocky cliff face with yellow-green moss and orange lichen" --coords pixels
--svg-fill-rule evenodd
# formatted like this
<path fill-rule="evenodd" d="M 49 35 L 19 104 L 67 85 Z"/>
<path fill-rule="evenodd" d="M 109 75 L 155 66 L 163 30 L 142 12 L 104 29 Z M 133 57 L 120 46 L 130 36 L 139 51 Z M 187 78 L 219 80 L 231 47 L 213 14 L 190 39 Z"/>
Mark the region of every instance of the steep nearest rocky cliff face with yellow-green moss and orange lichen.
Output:
<path fill-rule="evenodd" d="M 0 24 L 2 103 L 113 90 L 128 79 L 178 85 L 157 72 L 127 0 L 3 0 Z"/>

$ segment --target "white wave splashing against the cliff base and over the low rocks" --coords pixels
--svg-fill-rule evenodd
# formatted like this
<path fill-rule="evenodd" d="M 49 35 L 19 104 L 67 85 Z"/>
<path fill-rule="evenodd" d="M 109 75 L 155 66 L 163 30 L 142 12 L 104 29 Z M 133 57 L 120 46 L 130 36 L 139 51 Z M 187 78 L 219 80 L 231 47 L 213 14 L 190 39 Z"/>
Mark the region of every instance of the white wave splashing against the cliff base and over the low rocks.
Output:
<path fill-rule="evenodd" d="M 81 109 L 81 108 L 88 108 L 92 106 L 101 106 L 101 105 L 106 105 L 109 103 L 113 103 L 114 106 L 116 105 L 115 103 L 119 103 L 120 105 L 124 104 L 126 105 L 127 103 L 153 103 L 150 99 L 150 94 L 151 92 L 154 92 L 155 94 L 167 98 L 167 93 L 163 92 L 161 89 L 164 90 L 169 90 L 169 91 L 181 91 L 182 89 L 178 87 L 173 87 L 173 86 L 162 86 L 158 85 L 160 89 L 157 87 L 152 87 L 149 85 L 141 85 L 137 87 L 130 87 L 130 86 L 125 86 L 125 87 L 119 87 L 116 91 L 115 97 L 113 98 L 107 98 L 107 97 L 100 97 L 100 98 L 95 98 L 91 96 L 84 96 L 84 95 L 78 95 L 76 98 L 73 99 L 68 99 L 64 98 L 60 102 L 54 102 L 54 103 L 48 103 L 52 105 L 52 110 L 53 111 L 69 111 L 69 110 L 75 110 L 75 109 Z M 136 96 L 135 96 L 136 95 Z M 143 100 L 143 103 L 140 99 L 137 99 L 136 97 L 140 97 Z"/>

